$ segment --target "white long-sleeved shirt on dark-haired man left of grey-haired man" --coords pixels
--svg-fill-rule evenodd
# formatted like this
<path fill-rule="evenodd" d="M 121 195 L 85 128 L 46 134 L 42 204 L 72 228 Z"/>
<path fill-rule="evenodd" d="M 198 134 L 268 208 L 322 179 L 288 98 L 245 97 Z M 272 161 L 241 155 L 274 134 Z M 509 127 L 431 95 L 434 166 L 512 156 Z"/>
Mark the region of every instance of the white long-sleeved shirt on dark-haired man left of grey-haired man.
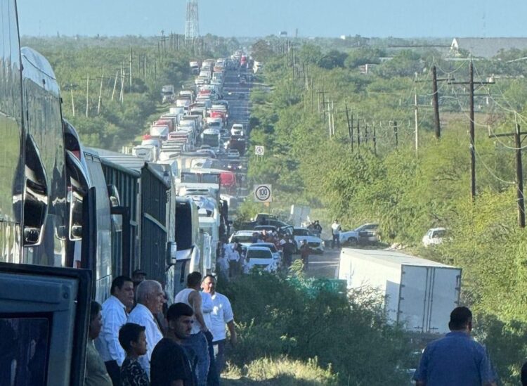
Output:
<path fill-rule="evenodd" d="M 112 295 L 103 303 L 100 314 L 103 316 L 103 328 L 95 340 L 95 347 L 103 361 L 117 361 L 120 367 L 126 356 L 119 343 L 119 328 L 126 323 L 126 307 Z"/>

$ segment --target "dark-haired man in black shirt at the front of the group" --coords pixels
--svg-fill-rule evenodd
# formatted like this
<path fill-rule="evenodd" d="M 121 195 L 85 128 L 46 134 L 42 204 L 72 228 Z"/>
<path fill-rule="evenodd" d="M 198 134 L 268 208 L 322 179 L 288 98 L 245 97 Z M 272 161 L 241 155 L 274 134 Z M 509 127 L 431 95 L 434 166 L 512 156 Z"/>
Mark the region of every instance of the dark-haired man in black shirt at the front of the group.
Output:
<path fill-rule="evenodd" d="M 150 360 L 151 386 L 195 386 L 190 360 L 181 342 L 190 336 L 193 309 L 187 304 L 172 304 L 167 311 L 169 330 L 155 346 Z"/>

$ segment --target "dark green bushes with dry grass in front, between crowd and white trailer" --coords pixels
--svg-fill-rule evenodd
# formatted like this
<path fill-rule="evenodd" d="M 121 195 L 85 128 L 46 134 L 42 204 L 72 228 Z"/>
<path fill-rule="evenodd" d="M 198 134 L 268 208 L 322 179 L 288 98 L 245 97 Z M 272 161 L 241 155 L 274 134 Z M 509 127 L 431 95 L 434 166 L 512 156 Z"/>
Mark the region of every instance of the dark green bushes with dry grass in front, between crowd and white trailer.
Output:
<path fill-rule="evenodd" d="M 289 276 L 257 271 L 219 283 L 238 328 L 224 377 L 232 385 L 407 384 L 411 347 L 386 323 L 375 294 L 346 296 L 301 271 L 297 260 Z"/>

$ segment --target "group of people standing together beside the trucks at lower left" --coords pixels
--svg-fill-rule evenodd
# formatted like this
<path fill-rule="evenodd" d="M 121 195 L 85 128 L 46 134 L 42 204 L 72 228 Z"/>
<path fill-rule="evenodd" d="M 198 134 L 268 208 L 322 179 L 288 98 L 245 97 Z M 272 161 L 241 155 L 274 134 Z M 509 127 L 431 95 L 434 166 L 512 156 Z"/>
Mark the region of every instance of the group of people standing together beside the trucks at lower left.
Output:
<path fill-rule="evenodd" d="M 140 270 L 133 277 L 118 276 L 102 306 L 91 304 L 84 385 L 219 385 L 236 331 L 216 278 L 189 274 L 167 307 L 159 282 Z"/>

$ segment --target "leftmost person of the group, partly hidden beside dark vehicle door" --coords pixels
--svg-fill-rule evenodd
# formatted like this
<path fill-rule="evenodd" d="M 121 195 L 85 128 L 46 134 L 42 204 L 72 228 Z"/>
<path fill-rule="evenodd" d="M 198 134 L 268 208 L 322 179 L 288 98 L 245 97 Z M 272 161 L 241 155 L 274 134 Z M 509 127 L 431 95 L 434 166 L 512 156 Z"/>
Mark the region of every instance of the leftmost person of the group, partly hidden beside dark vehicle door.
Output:
<path fill-rule="evenodd" d="M 86 343 L 86 373 L 84 374 L 84 386 L 112 386 L 112 379 L 106 371 L 103 359 L 95 348 L 93 341 L 97 339 L 103 328 L 103 316 L 100 314 L 100 304 L 91 302 L 90 326 L 88 330 L 88 342 Z"/>

